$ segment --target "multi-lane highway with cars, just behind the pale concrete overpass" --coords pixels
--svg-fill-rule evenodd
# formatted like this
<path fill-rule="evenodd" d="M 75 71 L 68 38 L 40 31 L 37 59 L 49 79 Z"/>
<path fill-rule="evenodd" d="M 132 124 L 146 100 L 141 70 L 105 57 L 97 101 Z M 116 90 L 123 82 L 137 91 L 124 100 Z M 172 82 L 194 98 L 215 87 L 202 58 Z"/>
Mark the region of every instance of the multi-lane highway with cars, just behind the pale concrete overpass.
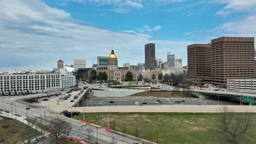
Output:
<path fill-rule="evenodd" d="M 157 101 L 157 102 L 156 102 Z M 89 99 L 85 100 L 83 106 L 100 106 L 100 105 L 236 105 L 230 101 L 219 101 L 212 99 L 199 98 L 106 98 L 106 99 Z"/>

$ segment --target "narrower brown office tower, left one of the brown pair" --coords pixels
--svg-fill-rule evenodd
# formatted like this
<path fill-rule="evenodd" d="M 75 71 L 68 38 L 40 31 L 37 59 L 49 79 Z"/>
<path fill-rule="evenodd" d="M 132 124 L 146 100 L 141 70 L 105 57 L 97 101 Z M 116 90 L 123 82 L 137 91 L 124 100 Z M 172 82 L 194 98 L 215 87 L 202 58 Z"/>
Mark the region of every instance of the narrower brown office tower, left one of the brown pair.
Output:
<path fill-rule="evenodd" d="M 211 80 L 211 44 L 188 46 L 188 79 Z"/>

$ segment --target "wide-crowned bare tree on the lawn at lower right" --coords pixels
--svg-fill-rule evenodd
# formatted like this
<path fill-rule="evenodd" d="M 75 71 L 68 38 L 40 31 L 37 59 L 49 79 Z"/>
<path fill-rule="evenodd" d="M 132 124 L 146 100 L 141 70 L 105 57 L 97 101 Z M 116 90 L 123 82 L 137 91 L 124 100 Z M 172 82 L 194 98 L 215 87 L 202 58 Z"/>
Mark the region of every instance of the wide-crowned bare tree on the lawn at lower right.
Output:
<path fill-rule="evenodd" d="M 232 136 L 232 142 L 236 143 L 236 137 L 251 131 L 253 127 L 253 117 L 250 113 L 235 113 L 224 106 L 219 109 L 216 127 L 219 131 Z"/>

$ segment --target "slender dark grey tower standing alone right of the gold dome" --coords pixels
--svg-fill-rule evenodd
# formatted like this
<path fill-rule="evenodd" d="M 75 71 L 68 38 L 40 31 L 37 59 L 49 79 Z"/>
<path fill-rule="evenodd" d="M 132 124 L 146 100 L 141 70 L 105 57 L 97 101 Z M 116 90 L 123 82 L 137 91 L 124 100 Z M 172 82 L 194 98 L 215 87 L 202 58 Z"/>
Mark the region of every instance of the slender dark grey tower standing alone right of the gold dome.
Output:
<path fill-rule="evenodd" d="M 153 43 L 145 45 L 145 68 L 155 69 L 155 44 Z"/>

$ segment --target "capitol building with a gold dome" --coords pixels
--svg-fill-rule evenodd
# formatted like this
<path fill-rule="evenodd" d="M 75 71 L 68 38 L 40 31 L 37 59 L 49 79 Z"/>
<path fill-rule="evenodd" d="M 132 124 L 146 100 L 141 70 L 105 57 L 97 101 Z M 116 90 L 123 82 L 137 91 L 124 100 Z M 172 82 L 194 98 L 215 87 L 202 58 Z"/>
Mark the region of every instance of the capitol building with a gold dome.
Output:
<path fill-rule="evenodd" d="M 126 73 L 130 71 L 133 75 L 133 80 L 137 80 L 137 71 L 135 69 L 129 70 L 126 67 L 118 67 L 118 58 L 115 55 L 114 50 L 108 56 L 108 65 L 107 67 L 97 68 L 98 72 L 105 72 L 108 75 L 109 81 L 125 81 Z"/>

